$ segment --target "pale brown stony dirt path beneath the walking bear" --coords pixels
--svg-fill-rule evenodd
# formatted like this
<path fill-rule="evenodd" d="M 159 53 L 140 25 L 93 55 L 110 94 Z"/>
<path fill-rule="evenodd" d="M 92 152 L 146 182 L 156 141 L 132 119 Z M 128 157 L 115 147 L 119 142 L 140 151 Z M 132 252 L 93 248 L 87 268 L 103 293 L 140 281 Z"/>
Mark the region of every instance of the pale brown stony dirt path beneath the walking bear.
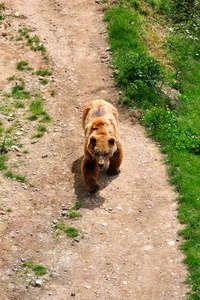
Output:
<path fill-rule="evenodd" d="M 47 99 L 53 115 L 49 133 L 36 143 L 23 140 L 29 154 L 20 170 L 34 187 L 1 177 L 0 299 L 184 299 L 176 194 L 158 148 L 123 109 L 120 175 L 102 174 L 96 195 L 88 194 L 80 175 L 82 107 L 92 99 L 117 105 L 119 98 L 106 64 L 101 4 L 8 0 L 6 6 L 26 16 L 16 22 L 26 22 L 44 42 L 58 94 Z M 9 48 L 8 40 L 0 50 L 7 61 L 1 65 L 3 88 L 26 52 Z M 27 58 L 41 63 L 35 56 Z M 13 154 L 13 159 L 19 158 Z M 76 201 L 82 204 L 82 217 L 70 221 L 65 213 Z M 78 228 L 78 238 L 57 235 L 59 222 Z M 22 267 L 28 261 L 45 266 L 47 274 L 36 282 Z"/>

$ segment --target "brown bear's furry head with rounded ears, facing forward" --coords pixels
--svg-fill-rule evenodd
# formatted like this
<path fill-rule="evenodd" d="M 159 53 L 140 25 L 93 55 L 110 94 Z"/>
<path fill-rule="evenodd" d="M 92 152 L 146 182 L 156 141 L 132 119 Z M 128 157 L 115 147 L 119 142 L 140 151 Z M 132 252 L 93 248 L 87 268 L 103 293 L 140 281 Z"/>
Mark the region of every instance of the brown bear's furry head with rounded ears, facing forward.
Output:
<path fill-rule="evenodd" d="M 89 138 L 87 150 L 96 159 L 99 168 L 103 169 L 117 150 L 116 139 L 110 135 L 92 134 Z"/>

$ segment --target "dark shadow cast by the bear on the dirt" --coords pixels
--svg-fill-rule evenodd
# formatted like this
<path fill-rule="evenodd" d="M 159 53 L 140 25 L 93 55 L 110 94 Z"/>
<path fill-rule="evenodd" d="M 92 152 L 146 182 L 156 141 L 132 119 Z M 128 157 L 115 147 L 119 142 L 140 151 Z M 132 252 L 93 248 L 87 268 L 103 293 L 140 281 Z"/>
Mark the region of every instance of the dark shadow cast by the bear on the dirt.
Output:
<path fill-rule="evenodd" d="M 72 173 L 74 174 L 74 193 L 77 196 L 77 202 L 82 204 L 82 208 L 92 210 L 96 207 L 102 206 L 102 204 L 105 202 L 105 198 L 101 197 L 98 192 L 95 194 L 90 194 L 88 192 L 81 175 L 82 159 L 83 156 L 75 160 L 72 165 Z M 98 177 L 100 190 L 103 190 L 115 178 L 116 176 L 109 177 L 105 174 L 105 172 L 102 171 Z"/>

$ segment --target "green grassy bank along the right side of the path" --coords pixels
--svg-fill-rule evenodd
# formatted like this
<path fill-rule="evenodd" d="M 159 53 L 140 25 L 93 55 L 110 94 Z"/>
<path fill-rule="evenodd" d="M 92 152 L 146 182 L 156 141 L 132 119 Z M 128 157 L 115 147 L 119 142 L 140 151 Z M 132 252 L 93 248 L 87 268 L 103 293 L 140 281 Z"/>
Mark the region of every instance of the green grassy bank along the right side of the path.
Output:
<path fill-rule="evenodd" d="M 124 0 L 107 3 L 112 68 L 121 102 L 166 154 L 185 224 L 189 299 L 200 299 L 200 26 L 199 2 Z M 172 97 L 173 94 L 173 97 Z"/>

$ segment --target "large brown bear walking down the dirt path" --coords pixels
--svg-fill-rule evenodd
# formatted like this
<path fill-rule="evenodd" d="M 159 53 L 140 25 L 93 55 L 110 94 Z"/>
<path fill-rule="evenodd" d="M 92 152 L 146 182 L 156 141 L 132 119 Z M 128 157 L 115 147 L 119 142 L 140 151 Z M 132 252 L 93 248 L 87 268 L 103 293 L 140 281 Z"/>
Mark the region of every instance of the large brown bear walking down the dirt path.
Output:
<path fill-rule="evenodd" d="M 109 164 L 107 174 L 116 175 L 124 157 L 116 108 L 104 100 L 89 102 L 83 108 L 83 129 L 85 147 L 81 171 L 89 192 L 95 193 L 99 189 L 99 169 Z"/>

